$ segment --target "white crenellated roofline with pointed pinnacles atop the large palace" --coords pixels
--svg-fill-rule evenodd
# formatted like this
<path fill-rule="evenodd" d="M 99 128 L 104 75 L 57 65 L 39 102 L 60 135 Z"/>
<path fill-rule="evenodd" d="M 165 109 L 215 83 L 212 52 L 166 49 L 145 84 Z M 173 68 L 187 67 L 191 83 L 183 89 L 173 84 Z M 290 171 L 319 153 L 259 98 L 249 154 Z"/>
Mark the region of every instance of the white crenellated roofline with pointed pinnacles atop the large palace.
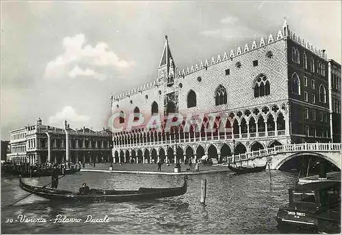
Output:
<path fill-rule="evenodd" d="M 296 44 L 303 46 L 304 48 L 306 48 L 308 50 L 310 50 L 312 53 L 314 53 L 315 55 L 317 55 L 321 59 L 324 59 L 324 60 L 327 59 L 327 55 L 325 53 L 325 50 L 320 50 L 316 46 L 314 47 L 313 44 L 311 44 L 310 42 L 305 42 L 304 39 L 300 38 L 300 36 L 297 36 L 294 31 L 291 31 L 289 29 L 289 25 L 287 25 L 287 20 L 285 18 L 284 23 L 282 25 L 282 29 L 279 29 L 278 33 L 269 33 L 268 37 L 261 36 L 261 38 L 259 40 L 257 40 L 257 41 L 253 40 L 252 42 L 246 43 L 244 45 L 244 47 L 238 46 L 236 51 L 232 49 L 231 53 L 229 53 L 229 56 L 228 56 L 228 53 L 226 53 L 226 51 L 225 51 L 223 55 L 218 55 L 218 57 L 216 57 L 216 58 L 211 57 L 211 59 L 205 59 L 205 62 L 200 61 L 199 63 L 196 63 L 195 65 L 184 68 L 182 70 L 182 72 L 180 69 L 175 67 L 176 71 L 178 71 L 178 74 L 176 74 L 176 76 L 177 77 L 185 77 L 186 75 L 197 72 L 198 70 L 207 69 L 210 66 L 221 63 L 221 62 L 226 61 L 228 59 L 234 59 L 234 58 L 239 57 L 241 55 L 244 55 L 250 51 L 254 51 L 254 50 L 260 49 L 264 46 L 267 46 L 269 44 L 273 44 L 273 43 L 278 42 L 280 40 L 287 40 L 287 39 L 291 40 L 292 42 L 295 42 Z M 241 48 L 243 48 L 243 49 L 241 49 Z M 168 37 L 167 36 L 166 36 L 166 42 L 165 42 L 164 49 L 163 49 L 163 54 L 161 55 L 161 61 L 159 62 L 159 68 L 165 66 L 165 65 L 162 65 L 164 53 L 166 53 L 166 56 L 168 56 L 168 53 L 170 53 L 170 47 L 168 45 Z M 170 57 L 170 56 L 168 56 L 168 57 Z M 210 64 L 209 64 L 209 61 L 210 61 Z M 162 79 L 161 80 L 155 79 L 154 81 L 151 81 L 150 83 L 147 83 L 141 87 L 133 88 L 129 92 L 118 94 L 118 95 L 114 96 L 114 101 L 122 100 L 122 99 L 129 97 L 129 96 L 132 96 L 134 94 L 142 93 L 142 92 L 144 92 L 148 89 L 151 89 L 155 86 L 159 87 L 159 85 L 162 85 L 163 82 L 164 81 Z"/>

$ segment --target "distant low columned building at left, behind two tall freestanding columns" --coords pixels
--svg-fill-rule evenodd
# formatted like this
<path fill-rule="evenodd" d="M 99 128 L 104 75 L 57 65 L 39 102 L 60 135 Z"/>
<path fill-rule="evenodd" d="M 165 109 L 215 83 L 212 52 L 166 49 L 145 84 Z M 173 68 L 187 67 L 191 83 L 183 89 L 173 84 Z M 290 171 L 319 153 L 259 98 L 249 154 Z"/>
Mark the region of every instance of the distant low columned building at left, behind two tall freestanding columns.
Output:
<path fill-rule="evenodd" d="M 47 161 L 111 161 L 111 132 L 94 131 L 90 128 L 72 129 L 65 121 L 64 128 L 47 126 L 42 120 L 35 125 L 10 132 L 10 154 L 8 161 L 41 164 Z"/>

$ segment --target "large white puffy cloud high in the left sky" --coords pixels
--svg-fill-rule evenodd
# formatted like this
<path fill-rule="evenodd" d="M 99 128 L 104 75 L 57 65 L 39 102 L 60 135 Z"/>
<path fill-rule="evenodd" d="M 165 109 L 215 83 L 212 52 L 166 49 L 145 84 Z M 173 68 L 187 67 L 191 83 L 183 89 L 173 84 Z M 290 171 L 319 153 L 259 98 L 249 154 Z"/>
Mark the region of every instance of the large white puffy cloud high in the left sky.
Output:
<path fill-rule="evenodd" d="M 79 63 L 94 67 L 114 68 L 128 68 L 135 64 L 134 61 L 125 61 L 113 51 L 109 51 L 109 46 L 105 42 L 98 42 L 94 47 L 85 44 L 86 36 L 84 34 L 78 34 L 73 38 L 64 38 L 62 42 L 64 53 L 47 64 L 44 77 L 47 79 L 63 77 L 71 68 L 74 67 L 75 70 L 75 65 Z M 84 75 L 84 73 L 79 75 Z"/>

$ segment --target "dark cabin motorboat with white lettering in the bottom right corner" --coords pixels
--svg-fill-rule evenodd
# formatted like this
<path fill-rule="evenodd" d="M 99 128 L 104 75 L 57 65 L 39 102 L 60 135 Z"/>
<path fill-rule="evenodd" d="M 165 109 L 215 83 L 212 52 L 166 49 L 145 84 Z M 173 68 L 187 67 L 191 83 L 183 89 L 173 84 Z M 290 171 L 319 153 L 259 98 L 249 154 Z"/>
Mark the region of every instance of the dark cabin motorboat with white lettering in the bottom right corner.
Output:
<path fill-rule="evenodd" d="M 289 189 L 289 204 L 276 216 L 280 232 L 341 232 L 341 182 L 298 184 Z"/>

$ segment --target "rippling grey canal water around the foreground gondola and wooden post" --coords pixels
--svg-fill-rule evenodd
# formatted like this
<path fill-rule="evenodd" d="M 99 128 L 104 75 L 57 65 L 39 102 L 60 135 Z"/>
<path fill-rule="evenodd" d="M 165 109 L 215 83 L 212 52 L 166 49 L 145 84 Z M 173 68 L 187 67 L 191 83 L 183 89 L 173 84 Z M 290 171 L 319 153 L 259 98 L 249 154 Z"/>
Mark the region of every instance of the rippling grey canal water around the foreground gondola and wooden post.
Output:
<path fill-rule="evenodd" d="M 296 173 L 268 171 L 234 176 L 231 172 L 190 175 L 185 195 L 148 202 L 55 203 L 27 193 L 18 178 L 1 178 L 1 233 L 3 234 L 240 234 L 278 233 L 276 213 L 288 202 L 288 188 Z M 200 183 L 207 179 L 206 206 L 200 204 Z M 25 178 L 44 185 L 50 177 Z M 59 187 L 78 191 L 83 182 L 97 189 L 138 189 L 180 186 L 183 176 L 81 172 L 65 176 Z M 21 223 L 19 215 L 43 218 L 46 223 Z M 80 223 L 54 223 L 57 215 L 82 219 Z M 107 223 L 83 223 L 108 217 Z M 12 223 L 10 219 L 13 219 Z M 18 221 L 16 221 L 18 220 Z"/>

